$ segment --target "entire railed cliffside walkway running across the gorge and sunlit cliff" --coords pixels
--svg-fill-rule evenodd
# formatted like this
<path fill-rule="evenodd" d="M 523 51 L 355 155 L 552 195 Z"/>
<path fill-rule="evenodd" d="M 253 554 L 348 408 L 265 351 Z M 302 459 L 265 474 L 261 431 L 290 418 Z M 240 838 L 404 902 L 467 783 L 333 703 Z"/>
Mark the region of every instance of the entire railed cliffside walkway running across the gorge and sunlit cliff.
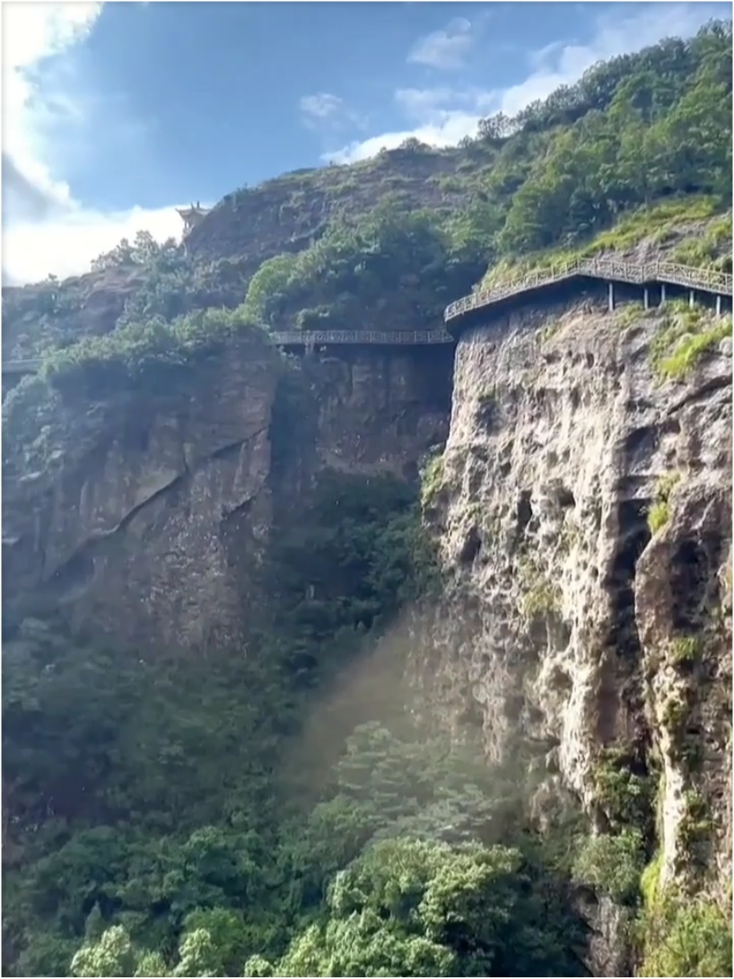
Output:
<path fill-rule="evenodd" d="M 581 285 L 585 280 L 608 284 L 609 308 L 615 307 L 615 285 L 637 286 L 647 308 L 650 303 L 664 304 L 666 289 L 688 293 L 691 304 L 696 294 L 713 298 L 716 312 L 722 311 L 722 299 L 731 300 L 732 276 L 713 269 L 693 268 L 673 262 L 628 262 L 614 258 L 579 258 L 530 272 L 521 278 L 500 283 L 490 289 L 472 293 L 446 306 L 443 319 L 446 329 L 439 330 L 313 330 L 271 333 L 275 347 L 315 350 L 334 346 L 423 347 L 428 344 L 452 344 L 468 326 L 486 320 L 502 311 L 511 301 L 525 296 L 535 299 L 538 293 L 550 293 L 563 284 Z M 730 303 L 729 303 L 730 304 Z M 3 374 L 34 374 L 42 364 L 40 357 L 3 361 Z"/>

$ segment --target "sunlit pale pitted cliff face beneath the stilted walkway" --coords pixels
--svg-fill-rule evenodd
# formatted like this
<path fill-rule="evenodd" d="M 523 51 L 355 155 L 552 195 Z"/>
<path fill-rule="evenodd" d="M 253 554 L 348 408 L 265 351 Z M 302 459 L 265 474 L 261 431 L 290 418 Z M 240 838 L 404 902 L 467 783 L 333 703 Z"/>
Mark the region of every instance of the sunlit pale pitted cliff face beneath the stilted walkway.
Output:
<path fill-rule="evenodd" d="M 663 316 L 608 313 L 590 291 L 461 338 L 430 494 L 446 600 L 415 669 L 449 720 L 482 725 L 489 757 L 546 788 L 562 775 L 600 828 L 636 796 L 664 879 L 708 866 L 715 890 L 731 842 L 731 346 L 665 380 Z"/>

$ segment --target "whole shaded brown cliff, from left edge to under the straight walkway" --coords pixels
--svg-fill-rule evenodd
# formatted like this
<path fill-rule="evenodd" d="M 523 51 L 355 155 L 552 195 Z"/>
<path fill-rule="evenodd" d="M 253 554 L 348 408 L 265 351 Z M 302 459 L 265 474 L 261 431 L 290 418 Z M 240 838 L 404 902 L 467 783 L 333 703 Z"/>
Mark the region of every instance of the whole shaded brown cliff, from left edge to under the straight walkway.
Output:
<path fill-rule="evenodd" d="M 412 478 L 445 441 L 452 355 L 282 358 L 253 335 L 134 390 L 26 384 L 4 460 L 6 623 L 54 611 L 139 649 L 231 644 L 273 520 L 298 519 L 320 469 Z"/>

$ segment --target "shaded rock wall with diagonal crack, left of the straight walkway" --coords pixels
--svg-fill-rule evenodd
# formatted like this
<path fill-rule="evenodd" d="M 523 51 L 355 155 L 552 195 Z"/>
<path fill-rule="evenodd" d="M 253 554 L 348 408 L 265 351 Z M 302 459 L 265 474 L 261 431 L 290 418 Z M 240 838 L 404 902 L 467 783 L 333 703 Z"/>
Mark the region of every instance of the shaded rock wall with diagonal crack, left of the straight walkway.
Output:
<path fill-rule="evenodd" d="M 144 389 L 25 405 L 3 468 L 6 615 L 60 611 L 148 648 L 231 636 L 238 563 L 269 520 L 277 376 L 252 342 Z"/>

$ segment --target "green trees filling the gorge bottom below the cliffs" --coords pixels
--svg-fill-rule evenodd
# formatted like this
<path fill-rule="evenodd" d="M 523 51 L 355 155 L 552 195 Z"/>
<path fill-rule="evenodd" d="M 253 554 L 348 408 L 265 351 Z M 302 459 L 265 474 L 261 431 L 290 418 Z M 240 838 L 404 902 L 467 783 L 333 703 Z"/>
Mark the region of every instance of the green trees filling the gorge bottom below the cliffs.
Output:
<path fill-rule="evenodd" d="M 24 623 L 4 645 L 6 974 L 580 974 L 522 787 L 412 717 L 395 641 L 319 707 L 429 597 L 421 540 L 414 489 L 332 474 L 274 534 L 247 655 Z"/>

